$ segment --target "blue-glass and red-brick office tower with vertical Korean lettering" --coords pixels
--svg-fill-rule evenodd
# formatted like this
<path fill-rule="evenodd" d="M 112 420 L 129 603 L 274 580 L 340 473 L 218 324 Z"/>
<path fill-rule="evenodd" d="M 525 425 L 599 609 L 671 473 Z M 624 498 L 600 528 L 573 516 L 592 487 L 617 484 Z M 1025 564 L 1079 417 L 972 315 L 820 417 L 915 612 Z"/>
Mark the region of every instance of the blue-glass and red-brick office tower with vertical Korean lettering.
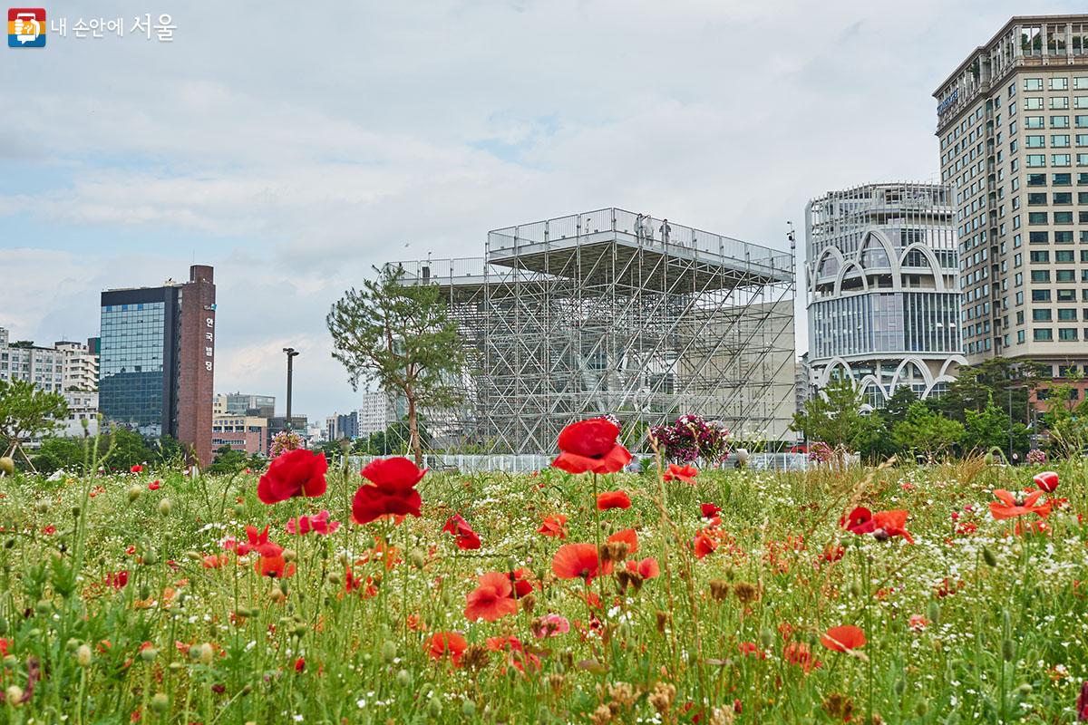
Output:
<path fill-rule="evenodd" d="M 194 265 L 187 283 L 102 292 L 98 388 L 106 422 L 173 436 L 208 465 L 214 326 L 210 266 Z"/>

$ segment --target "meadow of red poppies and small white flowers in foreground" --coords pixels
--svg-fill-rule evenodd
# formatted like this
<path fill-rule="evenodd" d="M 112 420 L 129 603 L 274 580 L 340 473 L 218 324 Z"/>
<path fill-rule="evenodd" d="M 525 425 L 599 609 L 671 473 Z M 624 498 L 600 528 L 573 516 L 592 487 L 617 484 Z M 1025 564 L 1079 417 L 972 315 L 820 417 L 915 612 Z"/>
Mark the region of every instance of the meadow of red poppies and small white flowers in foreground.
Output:
<path fill-rule="evenodd" d="M 625 474 L 591 427 L 536 475 L 0 478 L 0 722 L 1088 718 L 1079 465 Z"/>

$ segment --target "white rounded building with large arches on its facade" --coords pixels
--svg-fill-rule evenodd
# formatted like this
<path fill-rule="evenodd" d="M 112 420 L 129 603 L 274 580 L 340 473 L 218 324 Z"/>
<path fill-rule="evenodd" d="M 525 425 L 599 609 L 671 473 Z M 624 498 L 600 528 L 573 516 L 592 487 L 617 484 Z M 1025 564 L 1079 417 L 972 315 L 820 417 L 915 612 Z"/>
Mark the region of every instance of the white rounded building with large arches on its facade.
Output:
<path fill-rule="evenodd" d="M 966 361 L 948 187 L 868 184 L 808 203 L 808 366 L 883 407 L 897 387 L 940 395 Z"/>

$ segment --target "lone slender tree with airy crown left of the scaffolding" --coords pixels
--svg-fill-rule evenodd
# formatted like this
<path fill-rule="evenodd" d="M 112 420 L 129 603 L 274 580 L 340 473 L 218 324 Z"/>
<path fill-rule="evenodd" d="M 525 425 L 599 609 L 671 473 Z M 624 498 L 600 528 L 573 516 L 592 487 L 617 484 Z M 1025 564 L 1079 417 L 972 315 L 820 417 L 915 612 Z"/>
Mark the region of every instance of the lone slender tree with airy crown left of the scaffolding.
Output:
<path fill-rule="evenodd" d="M 456 383 L 465 355 L 457 324 L 434 285 L 407 280 L 399 266 L 375 272 L 375 279 L 345 292 L 325 317 L 333 358 L 347 370 L 353 388 L 360 380 L 374 382 L 404 396 L 411 449 L 422 465 L 420 409 L 461 401 Z"/>

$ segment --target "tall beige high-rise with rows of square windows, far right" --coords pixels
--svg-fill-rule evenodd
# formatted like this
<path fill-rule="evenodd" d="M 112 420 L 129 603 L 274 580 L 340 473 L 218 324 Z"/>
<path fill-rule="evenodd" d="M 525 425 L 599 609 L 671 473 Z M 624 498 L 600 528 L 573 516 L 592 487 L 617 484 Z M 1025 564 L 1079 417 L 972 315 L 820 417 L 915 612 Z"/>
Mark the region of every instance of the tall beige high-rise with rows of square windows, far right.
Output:
<path fill-rule="evenodd" d="M 1013 17 L 934 93 L 968 363 L 1088 363 L 1088 15 Z M 1084 387 L 1084 386 L 1080 386 Z"/>

